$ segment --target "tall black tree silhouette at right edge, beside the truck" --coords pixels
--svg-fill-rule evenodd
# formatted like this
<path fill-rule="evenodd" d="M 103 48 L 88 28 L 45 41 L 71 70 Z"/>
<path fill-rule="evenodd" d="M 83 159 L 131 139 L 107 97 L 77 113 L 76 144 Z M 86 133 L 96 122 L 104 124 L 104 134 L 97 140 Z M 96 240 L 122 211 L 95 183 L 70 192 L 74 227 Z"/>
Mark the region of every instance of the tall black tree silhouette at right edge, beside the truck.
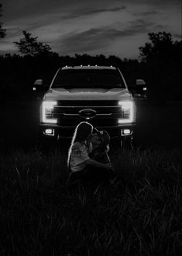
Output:
<path fill-rule="evenodd" d="M 181 92 L 182 41 L 173 41 L 167 32 L 148 33 L 150 42 L 139 47 L 142 65 L 149 81 L 148 88 L 155 100 Z M 165 93 L 165 96 L 164 96 Z"/>

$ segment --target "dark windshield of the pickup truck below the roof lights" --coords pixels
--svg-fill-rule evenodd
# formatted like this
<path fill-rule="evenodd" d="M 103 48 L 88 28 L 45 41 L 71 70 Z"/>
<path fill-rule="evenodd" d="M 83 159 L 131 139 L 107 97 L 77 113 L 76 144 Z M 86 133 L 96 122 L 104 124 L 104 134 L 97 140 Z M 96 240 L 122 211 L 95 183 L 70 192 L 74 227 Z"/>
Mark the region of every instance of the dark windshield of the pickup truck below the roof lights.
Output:
<path fill-rule="evenodd" d="M 115 69 L 60 70 L 52 88 L 125 88 L 122 75 Z"/>

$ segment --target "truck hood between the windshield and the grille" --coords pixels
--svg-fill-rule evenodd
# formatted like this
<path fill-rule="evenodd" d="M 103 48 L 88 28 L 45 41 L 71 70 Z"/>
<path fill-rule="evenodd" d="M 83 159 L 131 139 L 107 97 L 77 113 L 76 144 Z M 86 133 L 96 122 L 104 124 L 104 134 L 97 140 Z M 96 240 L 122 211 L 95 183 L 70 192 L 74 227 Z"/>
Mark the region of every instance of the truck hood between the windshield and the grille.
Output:
<path fill-rule="evenodd" d="M 92 89 L 92 88 L 74 88 L 74 89 L 49 89 L 43 100 L 131 100 L 132 95 L 128 89 Z"/>

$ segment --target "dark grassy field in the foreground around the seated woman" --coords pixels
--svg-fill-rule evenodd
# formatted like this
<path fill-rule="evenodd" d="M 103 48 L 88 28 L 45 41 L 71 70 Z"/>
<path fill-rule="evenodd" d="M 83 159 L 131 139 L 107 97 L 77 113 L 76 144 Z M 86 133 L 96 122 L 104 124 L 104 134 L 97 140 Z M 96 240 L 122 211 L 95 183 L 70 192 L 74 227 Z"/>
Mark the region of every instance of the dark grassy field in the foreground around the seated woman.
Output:
<path fill-rule="evenodd" d="M 108 186 L 67 188 L 66 156 L 0 156 L 0 255 L 180 255 L 181 149 L 113 154 Z"/>

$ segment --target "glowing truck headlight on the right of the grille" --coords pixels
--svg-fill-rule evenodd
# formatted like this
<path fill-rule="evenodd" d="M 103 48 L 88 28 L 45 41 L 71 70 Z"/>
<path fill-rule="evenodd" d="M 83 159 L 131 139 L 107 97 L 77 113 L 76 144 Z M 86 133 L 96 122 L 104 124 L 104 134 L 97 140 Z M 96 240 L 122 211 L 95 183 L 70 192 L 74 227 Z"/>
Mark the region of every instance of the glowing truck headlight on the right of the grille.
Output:
<path fill-rule="evenodd" d="M 122 116 L 118 118 L 118 124 L 128 124 L 135 121 L 135 103 L 133 101 L 118 101 L 118 105 L 122 107 Z"/>

